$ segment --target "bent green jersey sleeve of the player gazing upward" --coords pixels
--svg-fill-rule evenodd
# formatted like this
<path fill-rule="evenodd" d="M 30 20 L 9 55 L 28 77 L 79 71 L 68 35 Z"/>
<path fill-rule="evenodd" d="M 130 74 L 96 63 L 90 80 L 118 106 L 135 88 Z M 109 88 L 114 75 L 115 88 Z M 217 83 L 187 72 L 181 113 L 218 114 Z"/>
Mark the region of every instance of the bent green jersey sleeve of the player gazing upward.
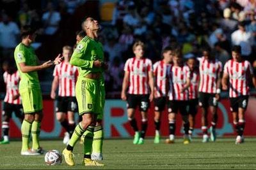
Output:
<path fill-rule="evenodd" d="M 88 48 L 88 42 L 80 41 L 70 59 L 71 65 L 81 67 L 82 69 L 93 67 L 93 60 L 83 59 L 83 55 L 86 53 L 86 48 Z"/>

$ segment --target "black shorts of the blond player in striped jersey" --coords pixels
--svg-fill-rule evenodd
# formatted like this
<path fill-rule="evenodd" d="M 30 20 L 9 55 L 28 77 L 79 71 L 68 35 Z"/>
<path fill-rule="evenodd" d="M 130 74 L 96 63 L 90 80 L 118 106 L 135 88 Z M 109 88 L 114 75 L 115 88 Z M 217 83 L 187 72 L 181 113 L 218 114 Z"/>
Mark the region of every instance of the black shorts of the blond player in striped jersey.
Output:
<path fill-rule="evenodd" d="M 147 111 L 150 106 L 149 94 L 146 94 L 146 95 L 128 94 L 127 108 L 136 109 L 137 106 L 140 107 L 140 111 Z"/>

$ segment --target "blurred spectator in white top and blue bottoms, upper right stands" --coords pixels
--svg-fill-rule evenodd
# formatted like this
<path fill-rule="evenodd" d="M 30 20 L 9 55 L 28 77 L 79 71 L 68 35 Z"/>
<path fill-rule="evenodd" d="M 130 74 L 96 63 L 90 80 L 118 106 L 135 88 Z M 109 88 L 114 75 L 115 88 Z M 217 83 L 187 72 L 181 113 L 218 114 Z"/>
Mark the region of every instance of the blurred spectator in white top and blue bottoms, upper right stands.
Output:
<path fill-rule="evenodd" d="M 239 22 L 237 31 L 231 34 L 231 41 L 232 45 L 241 45 L 242 55 L 249 56 L 252 53 L 253 36 L 245 30 L 244 22 Z"/>

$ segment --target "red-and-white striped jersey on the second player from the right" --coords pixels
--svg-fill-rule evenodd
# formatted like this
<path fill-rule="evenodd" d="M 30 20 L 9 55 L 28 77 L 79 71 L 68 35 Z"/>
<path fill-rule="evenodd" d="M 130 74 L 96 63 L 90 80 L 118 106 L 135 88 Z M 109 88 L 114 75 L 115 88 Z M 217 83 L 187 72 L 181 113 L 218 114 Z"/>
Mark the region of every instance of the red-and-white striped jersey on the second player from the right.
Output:
<path fill-rule="evenodd" d="M 198 58 L 200 83 L 199 92 L 215 94 L 217 90 L 218 74 L 222 71 L 222 64 L 217 59 L 206 60 L 205 57 Z"/>

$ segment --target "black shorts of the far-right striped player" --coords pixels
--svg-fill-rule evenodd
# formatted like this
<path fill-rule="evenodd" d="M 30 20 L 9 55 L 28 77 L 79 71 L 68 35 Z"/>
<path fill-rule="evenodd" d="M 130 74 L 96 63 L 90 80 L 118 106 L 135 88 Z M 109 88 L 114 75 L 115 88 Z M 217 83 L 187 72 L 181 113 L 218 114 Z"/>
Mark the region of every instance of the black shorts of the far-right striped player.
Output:
<path fill-rule="evenodd" d="M 238 108 L 246 110 L 249 96 L 230 97 L 230 111 L 237 112 Z"/>

